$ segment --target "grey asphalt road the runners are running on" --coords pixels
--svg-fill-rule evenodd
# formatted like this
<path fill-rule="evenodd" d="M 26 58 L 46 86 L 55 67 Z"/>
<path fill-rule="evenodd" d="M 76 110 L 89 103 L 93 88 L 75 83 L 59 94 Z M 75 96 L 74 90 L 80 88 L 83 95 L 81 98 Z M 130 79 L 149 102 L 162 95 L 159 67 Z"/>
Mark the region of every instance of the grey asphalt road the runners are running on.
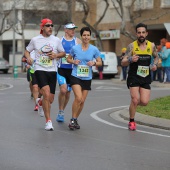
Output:
<path fill-rule="evenodd" d="M 138 126 L 110 114 L 129 105 L 126 85 L 111 80 L 93 80 L 79 117 L 80 130 L 68 129 L 73 94 L 65 110 L 65 122 L 55 121 L 56 89 L 51 117 L 54 131 L 44 130 L 45 119 L 33 111 L 34 102 L 26 75 L 14 79 L 0 74 L 0 170 L 169 170 L 170 132 Z M 151 98 L 165 96 L 169 89 L 152 88 Z"/>

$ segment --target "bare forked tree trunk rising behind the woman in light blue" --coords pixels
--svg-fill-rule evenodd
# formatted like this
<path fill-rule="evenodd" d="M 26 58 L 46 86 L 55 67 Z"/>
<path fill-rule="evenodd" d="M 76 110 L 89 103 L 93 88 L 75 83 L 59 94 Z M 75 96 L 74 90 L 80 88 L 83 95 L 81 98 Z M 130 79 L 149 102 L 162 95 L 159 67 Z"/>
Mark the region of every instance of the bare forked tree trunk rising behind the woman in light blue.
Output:
<path fill-rule="evenodd" d="M 102 45 L 102 41 L 101 41 L 100 34 L 99 34 L 99 31 L 98 31 L 97 27 L 100 24 L 100 22 L 102 21 L 102 19 L 104 18 L 106 12 L 107 12 L 107 9 L 109 7 L 108 0 L 103 0 L 105 2 L 106 6 L 104 7 L 104 11 L 101 14 L 101 16 L 99 17 L 99 19 L 93 25 L 91 23 L 89 23 L 88 20 L 87 20 L 88 15 L 90 13 L 90 5 L 89 5 L 89 3 L 87 1 L 83 1 L 83 0 L 76 0 L 76 1 L 83 6 L 84 17 L 82 18 L 82 23 L 85 24 L 86 26 L 88 26 L 92 30 L 92 32 L 95 33 L 96 41 L 98 43 L 97 46 L 102 51 L 103 50 L 103 45 Z"/>

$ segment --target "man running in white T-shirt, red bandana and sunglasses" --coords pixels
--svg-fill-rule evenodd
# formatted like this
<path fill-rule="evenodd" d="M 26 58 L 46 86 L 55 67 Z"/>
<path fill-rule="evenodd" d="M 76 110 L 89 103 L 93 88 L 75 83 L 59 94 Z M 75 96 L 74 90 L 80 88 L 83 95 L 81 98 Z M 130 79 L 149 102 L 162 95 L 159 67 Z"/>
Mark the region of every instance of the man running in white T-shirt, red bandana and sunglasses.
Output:
<path fill-rule="evenodd" d="M 37 103 L 39 104 L 39 109 L 44 110 L 46 118 L 45 130 L 54 130 L 50 110 L 56 88 L 56 60 L 66 54 L 60 39 L 52 35 L 52 21 L 45 18 L 41 20 L 40 27 L 40 35 L 31 39 L 26 47 L 25 56 L 27 62 L 32 64 L 33 60 L 30 57 L 30 52 L 35 51 L 35 75 L 43 96 L 42 99 L 37 100 Z"/>

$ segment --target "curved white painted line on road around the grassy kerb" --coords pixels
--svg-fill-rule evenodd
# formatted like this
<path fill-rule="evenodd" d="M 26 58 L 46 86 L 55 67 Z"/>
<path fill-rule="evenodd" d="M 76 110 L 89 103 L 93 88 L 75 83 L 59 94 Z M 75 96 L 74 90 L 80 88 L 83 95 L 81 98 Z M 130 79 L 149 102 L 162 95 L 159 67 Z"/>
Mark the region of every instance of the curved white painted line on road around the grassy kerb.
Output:
<path fill-rule="evenodd" d="M 112 109 L 120 109 L 120 108 L 124 108 L 124 107 L 127 107 L 127 106 L 118 106 L 118 107 L 111 107 L 111 108 L 106 108 L 106 109 L 98 110 L 98 111 L 96 111 L 96 112 L 91 113 L 90 116 L 91 116 L 93 119 L 95 119 L 95 120 L 97 120 L 97 121 L 99 121 L 99 122 L 105 123 L 105 124 L 107 124 L 107 125 L 114 126 L 114 127 L 121 128 L 121 129 L 127 129 L 127 127 L 119 126 L 119 125 L 116 125 L 116 124 L 114 124 L 114 123 L 110 123 L 110 122 L 108 122 L 108 121 L 106 121 L 106 120 L 103 120 L 103 119 L 101 119 L 101 118 L 99 118 L 99 117 L 97 116 L 97 114 L 100 113 L 100 112 L 107 111 L 107 110 L 112 110 Z M 161 137 L 170 138 L 170 136 L 168 136 L 168 135 L 163 135 L 163 134 L 160 134 L 160 133 L 147 132 L 147 131 L 143 131 L 143 130 L 136 130 L 136 131 L 137 131 L 137 132 L 141 132 L 141 133 L 150 134 L 150 135 L 155 135 L 155 136 L 161 136 Z"/>

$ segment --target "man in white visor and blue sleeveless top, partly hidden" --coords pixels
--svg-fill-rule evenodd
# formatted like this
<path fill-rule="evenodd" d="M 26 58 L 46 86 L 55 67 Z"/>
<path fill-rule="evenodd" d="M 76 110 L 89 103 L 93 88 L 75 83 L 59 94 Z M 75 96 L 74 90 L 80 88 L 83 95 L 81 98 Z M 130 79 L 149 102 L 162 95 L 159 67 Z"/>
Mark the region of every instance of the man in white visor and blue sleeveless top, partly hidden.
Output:
<path fill-rule="evenodd" d="M 57 80 L 60 86 L 60 92 L 58 94 L 59 112 L 56 118 L 57 122 L 64 122 L 64 109 L 69 101 L 71 92 L 70 77 L 73 65 L 67 62 L 67 56 L 70 54 L 70 50 L 74 45 L 81 43 L 81 40 L 74 36 L 75 28 L 77 26 L 72 22 L 67 23 L 64 26 L 65 35 L 61 39 L 66 56 L 61 58 L 58 63 Z"/>

